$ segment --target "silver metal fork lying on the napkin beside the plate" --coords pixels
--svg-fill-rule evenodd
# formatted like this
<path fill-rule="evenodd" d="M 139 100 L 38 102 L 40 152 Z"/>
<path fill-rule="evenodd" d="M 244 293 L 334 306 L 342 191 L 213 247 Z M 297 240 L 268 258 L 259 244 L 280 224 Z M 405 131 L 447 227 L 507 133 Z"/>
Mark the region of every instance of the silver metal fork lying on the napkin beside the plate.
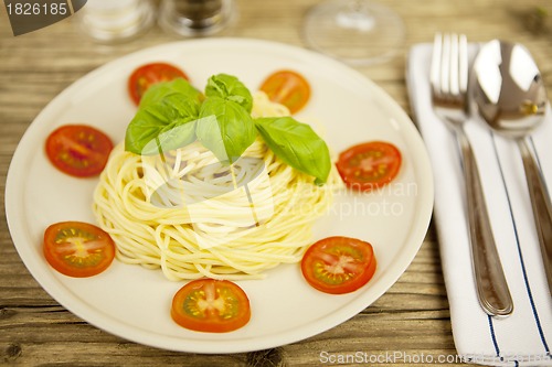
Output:
<path fill-rule="evenodd" d="M 464 130 L 468 119 L 468 47 L 465 35 L 435 35 L 431 85 L 433 108 L 455 132 L 461 158 L 477 294 L 484 311 L 507 316 L 513 302 L 498 256 L 474 151 Z"/>

